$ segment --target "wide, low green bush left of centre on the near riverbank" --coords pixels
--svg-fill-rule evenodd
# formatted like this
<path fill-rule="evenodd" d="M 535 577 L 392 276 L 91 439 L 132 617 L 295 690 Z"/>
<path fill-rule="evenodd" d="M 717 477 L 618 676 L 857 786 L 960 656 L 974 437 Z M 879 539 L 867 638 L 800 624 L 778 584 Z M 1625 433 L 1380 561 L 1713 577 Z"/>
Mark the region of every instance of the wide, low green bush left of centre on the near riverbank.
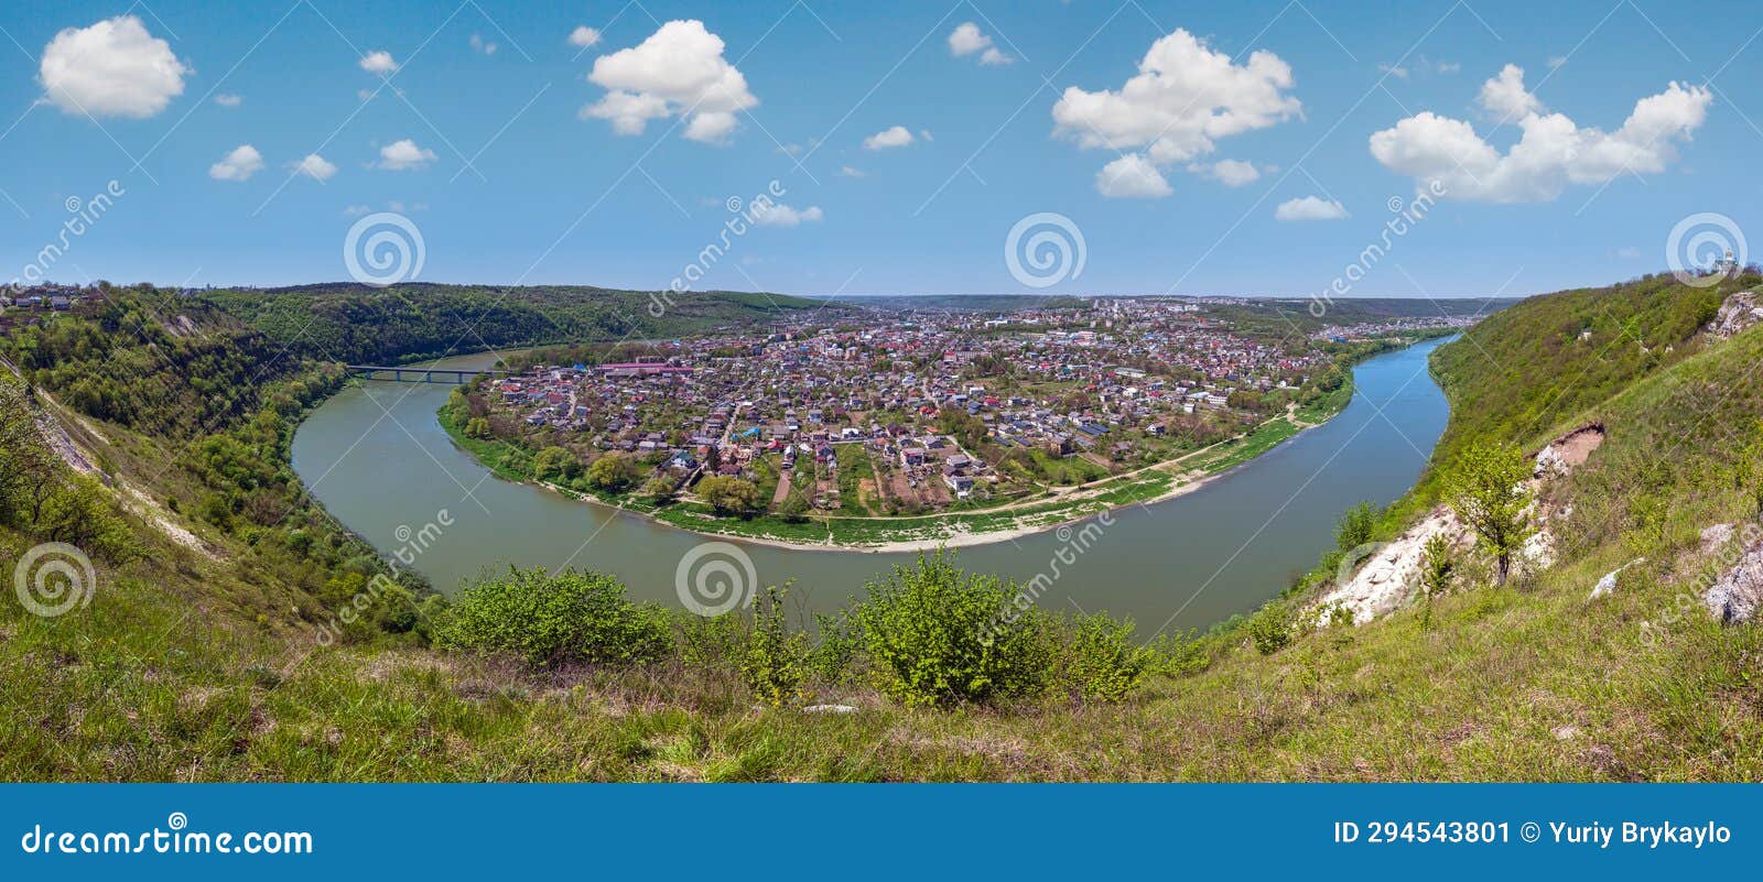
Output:
<path fill-rule="evenodd" d="M 666 613 L 624 599 L 598 572 L 510 570 L 465 588 L 435 628 L 446 648 L 513 653 L 534 665 L 642 664 L 666 655 Z"/>

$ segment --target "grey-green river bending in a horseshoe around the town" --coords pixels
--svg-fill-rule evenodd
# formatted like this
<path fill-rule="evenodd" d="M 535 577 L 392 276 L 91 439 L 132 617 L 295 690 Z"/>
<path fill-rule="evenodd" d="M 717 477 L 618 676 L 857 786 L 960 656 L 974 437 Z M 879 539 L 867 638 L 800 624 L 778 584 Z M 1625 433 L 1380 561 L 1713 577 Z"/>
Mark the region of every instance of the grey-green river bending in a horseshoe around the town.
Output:
<path fill-rule="evenodd" d="M 1361 363 L 1340 415 L 1194 493 L 1116 511 L 1107 526 L 963 548 L 959 562 L 1023 583 L 1044 574 L 1035 584 L 1047 609 L 1132 616 L 1141 637 L 1246 613 L 1315 563 L 1342 511 L 1361 500 L 1387 503 L 1419 477 L 1449 415 L 1426 373 L 1428 354 L 1442 343 Z M 492 359 L 435 366 L 481 368 Z M 294 437 L 294 470 L 324 507 L 381 551 L 404 549 L 441 592 L 487 569 L 573 565 L 619 576 L 633 599 L 679 606 L 688 555 L 688 569 L 714 576 L 719 563 L 735 562 L 732 572 L 746 579 L 739 555 L 721 546 L 693 555 L 716 539 L 490 475 L 435 423 L 450 391 L 365 382 L 314 410 Z M 739 549 L 760 584 L 793 581 L 792 606 L 816 613 L 913 558 Z"/>

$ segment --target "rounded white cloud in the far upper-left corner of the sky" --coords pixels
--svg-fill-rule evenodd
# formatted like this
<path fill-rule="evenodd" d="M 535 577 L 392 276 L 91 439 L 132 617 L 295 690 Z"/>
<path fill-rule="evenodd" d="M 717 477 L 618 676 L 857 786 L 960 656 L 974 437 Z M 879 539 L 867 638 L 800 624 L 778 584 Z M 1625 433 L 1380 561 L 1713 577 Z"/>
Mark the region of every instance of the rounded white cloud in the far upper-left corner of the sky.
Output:
<path fill-rule="evenodd" d="M 139 18 L 118 16 L 56 33 L 42 49 L 37 81 L 63 113 L 145 120 L 183 93 L 189 72 Z"/>

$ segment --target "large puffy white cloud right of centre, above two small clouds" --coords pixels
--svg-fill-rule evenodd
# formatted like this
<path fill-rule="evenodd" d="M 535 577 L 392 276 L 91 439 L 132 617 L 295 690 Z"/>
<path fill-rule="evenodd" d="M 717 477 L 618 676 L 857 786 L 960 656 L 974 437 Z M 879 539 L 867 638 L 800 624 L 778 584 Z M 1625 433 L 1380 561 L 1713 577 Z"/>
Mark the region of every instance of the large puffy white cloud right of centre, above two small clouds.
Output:
<path fill-rule="evenodd" d="M 1218 139 L 1298 116 L 1292 85 L 1278 55 L 1259 49 L 1238 65 L 1176 30 L 1151 44 L 1118 92 L 1067 88 L 1053 106 L 1053 134 L 1082 148 L 1139 150 L 1155 165 L 1190 162 Z"/>

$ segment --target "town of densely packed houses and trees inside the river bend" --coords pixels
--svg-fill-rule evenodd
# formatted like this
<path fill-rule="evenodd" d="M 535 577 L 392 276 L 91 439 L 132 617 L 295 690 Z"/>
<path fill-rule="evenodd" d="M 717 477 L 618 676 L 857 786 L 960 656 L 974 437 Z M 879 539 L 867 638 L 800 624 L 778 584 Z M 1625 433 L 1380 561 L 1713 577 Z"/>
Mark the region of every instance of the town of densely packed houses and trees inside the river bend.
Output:
<path fill-rule="evenodd" d="M 1216 306 L 1241 301 L 1079 303 L 862 310 L 577 349 L 568 363 L 541 352 L 462 393 L 464 433 L 513 442 L 536 454 L 532 477 L 599 496 L 919 516 L 1153 468 L 1289 417 L 1345 379 L 1340 331 L 1238 333 Z M 1416 327 L 1428 322 L 1387 322 Z"/>

